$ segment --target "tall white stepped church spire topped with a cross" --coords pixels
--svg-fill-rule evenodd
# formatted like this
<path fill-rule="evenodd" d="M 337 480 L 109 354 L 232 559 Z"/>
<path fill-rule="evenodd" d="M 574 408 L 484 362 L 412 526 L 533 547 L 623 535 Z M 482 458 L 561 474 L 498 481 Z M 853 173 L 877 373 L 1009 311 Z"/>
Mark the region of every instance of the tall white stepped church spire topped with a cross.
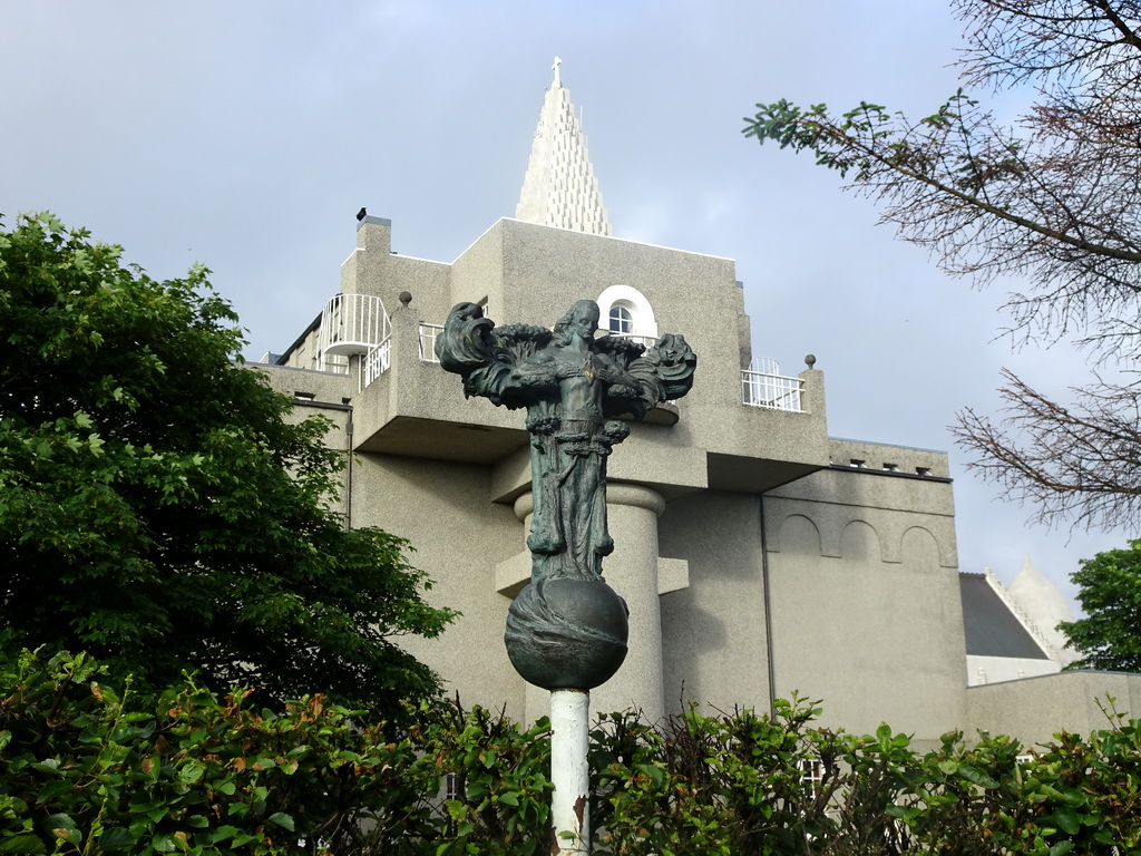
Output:
<path fill-rule="evenodd" d="M 555 82 L 543 99 L 515 216 L 543 226 L 609 235 L 610 224 L 586 154 L 586 138 L 575 118 L 570 92 L 563 87 L 561 63 L 555 57 Z"/>

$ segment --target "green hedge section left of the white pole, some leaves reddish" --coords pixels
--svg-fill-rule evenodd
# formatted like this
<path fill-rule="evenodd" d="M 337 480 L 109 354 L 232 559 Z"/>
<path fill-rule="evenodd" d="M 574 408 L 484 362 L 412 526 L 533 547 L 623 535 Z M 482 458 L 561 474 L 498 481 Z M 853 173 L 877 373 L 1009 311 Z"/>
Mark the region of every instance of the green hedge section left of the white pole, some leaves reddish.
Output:
<path fill-rule="evenodd" d="M 83 654 L 0 667 L 0 854 L 531 854 L 547 835 L 545 721 L 426 702 L 393 740 L 319 696 L 251 700 L 188 678 L 138 710 Z"/>

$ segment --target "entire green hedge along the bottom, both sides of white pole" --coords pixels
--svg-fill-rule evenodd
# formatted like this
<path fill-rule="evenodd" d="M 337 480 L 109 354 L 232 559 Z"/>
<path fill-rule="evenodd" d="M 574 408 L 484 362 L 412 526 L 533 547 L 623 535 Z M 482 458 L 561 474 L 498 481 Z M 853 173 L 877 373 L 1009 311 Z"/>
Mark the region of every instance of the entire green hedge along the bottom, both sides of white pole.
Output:
<path fill-rule="evenodd" d="M 0 854 L 534 856 L 550 848 L 547 720 L 422 702 L 412 725 L 314 696 L 282 713 L 193 679 L 135 704 L 86 655 L 0 665 Z M 696 706 L 592 733 L 596 856 L 1141 854 L 1141 721 L 1030 751 L 948 734 Z"/>

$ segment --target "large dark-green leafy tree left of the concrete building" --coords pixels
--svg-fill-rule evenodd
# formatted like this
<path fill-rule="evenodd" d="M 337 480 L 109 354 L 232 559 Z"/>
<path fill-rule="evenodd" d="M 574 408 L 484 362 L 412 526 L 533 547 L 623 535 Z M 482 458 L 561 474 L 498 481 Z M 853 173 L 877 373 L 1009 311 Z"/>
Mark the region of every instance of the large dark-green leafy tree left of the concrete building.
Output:
<path fill-rule="evenodd" d="M 50 216 L 0 232 L 0 653 L 393 716 L 435 693 L 394 637 L 452 613 L 404 541 L 346 530 L 329 423 L 241 368 L 204 268 L 156 282 L 121 252 Z"/>

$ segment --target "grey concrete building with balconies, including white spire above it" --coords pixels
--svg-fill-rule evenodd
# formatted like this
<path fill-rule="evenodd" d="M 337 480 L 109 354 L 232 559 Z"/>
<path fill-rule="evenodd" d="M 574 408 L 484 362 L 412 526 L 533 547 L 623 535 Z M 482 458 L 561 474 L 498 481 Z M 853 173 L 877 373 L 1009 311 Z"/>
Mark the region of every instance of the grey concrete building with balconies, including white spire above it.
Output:
<path fill-rule="evenodd" d="M 463 398 L 434 338 L 460 301 L 500 324 L 550 325 L 583 298 L 610 334 L 679 332 L 699 358 L 691 393 L 633 425 L 609 459 L 605 568 L 630 605 L 631 643 L 594 710 L 767 709 L 795 691 L 848 730 L 887 720 L 924 741 L 979 727 L 1042 738 L 1053 686 L 1101 688 L 1068 675 L 968 691 L 963 604 L 974 601 L 957 570 L 947 455 L 830 437 L 815 358 L 784 374 L 754 354 L 733 260 L 612 236 L 557 64 L 516 218 L 451 263 L 394 255 L 391 232 L 387 219 L 358 223 L 340 293 L 259 368 L 299 414 L 337 423 L 350 525 L 411 540 L 431 599 L 462 611 L 440 639 L 408 647 L 467 702 L 545 712 L 547 693 L 515 673 L 502 639 L 531 567 L 528 436 L 520 413 Z M 1020 719 L 1008 698 L 1035 714 Z"/>

